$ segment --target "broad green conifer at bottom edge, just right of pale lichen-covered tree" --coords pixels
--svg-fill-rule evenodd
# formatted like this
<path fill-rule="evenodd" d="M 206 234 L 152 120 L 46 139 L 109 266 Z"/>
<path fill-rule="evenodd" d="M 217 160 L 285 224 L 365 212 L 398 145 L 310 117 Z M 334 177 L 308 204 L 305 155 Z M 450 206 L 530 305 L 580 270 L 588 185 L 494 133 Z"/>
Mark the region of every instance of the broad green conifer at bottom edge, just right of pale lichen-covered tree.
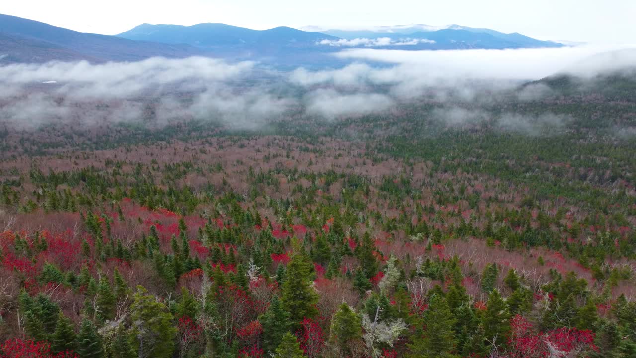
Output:
<path fill-rule="evenodd" d="M 431 297 L 429 309 L 424 313 L 424 328 L 420 337 L 413 344 L 409 345 L 410 357 L 457 357 L 452 354 L 457 342 L 453 327 L 457 320 L 448 308 L 448 303 L 444 297 L 434 295 Z"/>

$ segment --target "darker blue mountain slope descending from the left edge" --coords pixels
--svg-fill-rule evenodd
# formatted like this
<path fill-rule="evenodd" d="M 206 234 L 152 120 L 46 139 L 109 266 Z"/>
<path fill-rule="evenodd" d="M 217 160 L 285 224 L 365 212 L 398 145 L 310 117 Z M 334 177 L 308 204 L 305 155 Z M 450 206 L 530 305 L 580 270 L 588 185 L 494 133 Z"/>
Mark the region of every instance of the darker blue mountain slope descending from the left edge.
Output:
<path fill-rule="evenodd" d="M 76 32 L 25 18 L 0 14 L 0 63 L 139 61 L 153 56 L 188 57 L 202 52 L 190 45 L 132 41 Z"/>

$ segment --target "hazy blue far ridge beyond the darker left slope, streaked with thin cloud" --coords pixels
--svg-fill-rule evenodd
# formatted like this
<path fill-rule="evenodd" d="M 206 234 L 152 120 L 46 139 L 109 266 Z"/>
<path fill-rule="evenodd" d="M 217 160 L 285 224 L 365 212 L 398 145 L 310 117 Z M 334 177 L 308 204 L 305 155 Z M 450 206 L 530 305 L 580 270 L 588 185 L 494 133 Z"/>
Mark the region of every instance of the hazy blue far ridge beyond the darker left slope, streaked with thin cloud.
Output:
<path fill-rule="evenodd" d="M 303 29 L 314 30 L 316 27 Z M 370 30 L 331 29 L 324 32 L 276 27 L 264 31 L 225 24 L 192 26 L 143 24 L 118 36 L 162 43 L 186 43 L 199 48 L 225 52 L 230 48 L 249 48 L 263 52 L 280 49 L 328 51 L 329 48 L 399 48 L 401 50 L 441 50 L 464 48 L 562 47 L 561 43 L 541 41 L 522 34 L 504 34 L 490 29 L 460 25 L 379 26 Z M 388 40 L 387 40 L 388 39 Z"/>

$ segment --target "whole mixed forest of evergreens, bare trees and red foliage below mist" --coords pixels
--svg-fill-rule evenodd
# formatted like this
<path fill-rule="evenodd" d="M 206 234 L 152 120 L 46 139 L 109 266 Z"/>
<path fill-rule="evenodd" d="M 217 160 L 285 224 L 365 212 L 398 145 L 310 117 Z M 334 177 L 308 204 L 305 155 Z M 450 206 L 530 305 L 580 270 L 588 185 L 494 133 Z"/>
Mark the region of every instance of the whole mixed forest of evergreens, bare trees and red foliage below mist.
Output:
<path fill-rule="evenodd" d="M 0 125 L 0 357 L 636 357 L 633 88 L 550 81 L 251 131 Z"/>

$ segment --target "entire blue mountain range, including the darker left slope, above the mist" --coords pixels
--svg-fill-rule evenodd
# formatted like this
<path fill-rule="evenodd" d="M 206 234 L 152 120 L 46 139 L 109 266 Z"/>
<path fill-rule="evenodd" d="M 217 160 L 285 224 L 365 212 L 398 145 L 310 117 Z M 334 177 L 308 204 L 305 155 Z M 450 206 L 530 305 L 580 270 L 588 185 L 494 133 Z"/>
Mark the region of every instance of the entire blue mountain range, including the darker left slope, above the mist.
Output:
<path fill-rule="evenodd" d="M 0 64 L 46 61 L 139 61 L 153 56 L 191 55 L 228 61 L 251 60 L 277 68 L 338 67 L 351 60 L 332 56 L 342 48 L 453 50 L 468 48 L 560 47 L 522 34 L 460 25 L 381 26 L 326 33 L 291 27 L 252 30 L 226 24 L 142 24 L 117 36 L 71 31 L 0 14 Z"/>

